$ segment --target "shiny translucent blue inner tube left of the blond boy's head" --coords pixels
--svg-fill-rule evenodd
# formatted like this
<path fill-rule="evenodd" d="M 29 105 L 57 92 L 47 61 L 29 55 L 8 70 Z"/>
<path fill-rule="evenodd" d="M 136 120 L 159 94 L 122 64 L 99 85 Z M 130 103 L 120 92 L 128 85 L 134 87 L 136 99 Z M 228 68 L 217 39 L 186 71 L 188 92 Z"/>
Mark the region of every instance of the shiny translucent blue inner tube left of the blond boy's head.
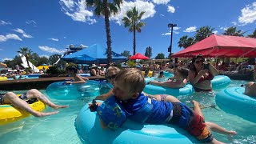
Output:
<path fill-rule="evenodd" d="M 65 82 L 54 82 L 46 89 L 50 98 L 60 100 L 95 97 L 100 95 L 99 82 L 87 81 L 83 84 L 65 85 Z"/>

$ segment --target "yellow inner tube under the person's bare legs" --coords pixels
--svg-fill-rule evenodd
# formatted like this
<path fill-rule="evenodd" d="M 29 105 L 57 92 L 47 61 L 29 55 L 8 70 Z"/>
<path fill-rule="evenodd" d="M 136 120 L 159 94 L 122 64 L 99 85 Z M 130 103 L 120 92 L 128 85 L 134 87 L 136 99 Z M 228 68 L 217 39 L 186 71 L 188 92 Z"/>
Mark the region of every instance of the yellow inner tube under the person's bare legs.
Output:
<path fill-rule="evenodd" d="M 19 97 L 21 94 L 17 94 Z M 46 105 L 41 101 L 36 101 L 34 103 L 29 104 L 33 110 L 42 111 L 46 108 Z M 22 118 L 26 118 L 30 116 L 24 110 L 15 108 L 14 106 L 10 105 L 0 105 L 0 126 L 6 125 L 10 122 L 18 121 Z"/>

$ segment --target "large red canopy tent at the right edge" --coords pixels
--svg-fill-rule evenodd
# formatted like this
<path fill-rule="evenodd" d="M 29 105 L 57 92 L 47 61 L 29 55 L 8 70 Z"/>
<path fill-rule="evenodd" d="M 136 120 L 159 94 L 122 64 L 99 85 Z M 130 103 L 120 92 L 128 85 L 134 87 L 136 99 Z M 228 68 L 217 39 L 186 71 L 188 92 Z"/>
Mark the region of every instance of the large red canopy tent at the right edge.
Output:
<path fill-rule="evenodd" d="M 210 37 L 173 54 L 172 57 L 191 58 L 202 54 L 208 58 L 255 58 L 256 38 L 212 34 Z"/>

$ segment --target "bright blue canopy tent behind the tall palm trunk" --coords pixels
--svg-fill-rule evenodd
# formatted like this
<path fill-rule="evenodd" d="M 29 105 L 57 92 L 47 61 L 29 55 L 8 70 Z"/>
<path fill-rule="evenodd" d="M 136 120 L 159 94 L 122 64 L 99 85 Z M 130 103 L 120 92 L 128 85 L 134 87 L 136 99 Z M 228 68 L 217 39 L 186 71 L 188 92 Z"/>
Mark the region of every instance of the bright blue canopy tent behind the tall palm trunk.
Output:
<path fill-rule="evenodd" d="M 74 60 L 76 63 L 106 63 L 106 49 L 99 44 L 94 44 L 73 54 L 66 55 L 62 59 Z M 112 62 L 125 62 L 126 60 L 126 57 L 112 51 Z"/>

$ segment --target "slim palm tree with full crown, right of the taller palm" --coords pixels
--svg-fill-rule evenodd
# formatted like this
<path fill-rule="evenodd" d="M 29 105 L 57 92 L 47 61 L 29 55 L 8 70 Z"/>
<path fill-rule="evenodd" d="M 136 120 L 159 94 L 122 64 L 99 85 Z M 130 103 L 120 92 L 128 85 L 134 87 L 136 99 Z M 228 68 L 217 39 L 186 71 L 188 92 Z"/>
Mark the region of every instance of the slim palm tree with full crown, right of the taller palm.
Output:
<path fill-rule="evenodd" d="M 134 6 L 132 10 L 126 12 L 126 17 L 122 18 L 125 27 L 130 26 L 129 31 L 134 32 L 134 54 L 136 54 L 136 30 L 140 33 L 142 32 L 141 27 L 145 26 L 145 22 L 141 22 L 143 14 L 145 14 L 145 11 L 138 14 L 138 10 L 136 10 L 136 6 Z"/>

